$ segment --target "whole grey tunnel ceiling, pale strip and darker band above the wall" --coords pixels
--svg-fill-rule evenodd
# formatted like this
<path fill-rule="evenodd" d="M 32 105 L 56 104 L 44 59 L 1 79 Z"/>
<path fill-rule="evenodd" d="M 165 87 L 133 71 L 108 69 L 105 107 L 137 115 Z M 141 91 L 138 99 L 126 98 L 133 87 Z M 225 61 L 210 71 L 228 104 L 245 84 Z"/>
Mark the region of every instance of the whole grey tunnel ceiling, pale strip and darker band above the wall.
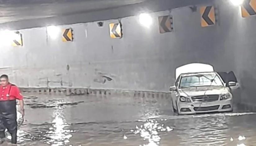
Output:
<path fill-rule="evenodd" d="M 212 0 L 0 0 L 0 27 L 24 29 L 117 19 Z"/>

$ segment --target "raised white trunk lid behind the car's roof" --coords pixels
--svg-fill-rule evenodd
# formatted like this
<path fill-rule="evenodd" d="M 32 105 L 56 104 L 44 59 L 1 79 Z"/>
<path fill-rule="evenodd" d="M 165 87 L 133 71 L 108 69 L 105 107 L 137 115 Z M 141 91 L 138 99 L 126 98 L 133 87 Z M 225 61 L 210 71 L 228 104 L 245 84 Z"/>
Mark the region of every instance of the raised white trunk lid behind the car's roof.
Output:
<path fill-rule="evenodd" d="M 200 72 L 213 72 L 213 66 L 209 64 L 202 64 L 202 63 L 191 63 L 180 66 L 175 71 L 176 79 L 182 73 L 200 73 Z"/>

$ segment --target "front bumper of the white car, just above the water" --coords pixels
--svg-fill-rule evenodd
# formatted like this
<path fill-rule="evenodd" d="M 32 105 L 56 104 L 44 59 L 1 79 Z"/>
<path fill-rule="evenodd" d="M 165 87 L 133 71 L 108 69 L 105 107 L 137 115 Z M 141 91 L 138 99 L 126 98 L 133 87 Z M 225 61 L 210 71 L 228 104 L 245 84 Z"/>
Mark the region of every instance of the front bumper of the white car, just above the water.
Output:
<path fill-rule="evenodd" d="M 233 107 L 231 99 L 205 103 L 178 103 L 179 114 L 231 112 L 232 110 Z"/>

